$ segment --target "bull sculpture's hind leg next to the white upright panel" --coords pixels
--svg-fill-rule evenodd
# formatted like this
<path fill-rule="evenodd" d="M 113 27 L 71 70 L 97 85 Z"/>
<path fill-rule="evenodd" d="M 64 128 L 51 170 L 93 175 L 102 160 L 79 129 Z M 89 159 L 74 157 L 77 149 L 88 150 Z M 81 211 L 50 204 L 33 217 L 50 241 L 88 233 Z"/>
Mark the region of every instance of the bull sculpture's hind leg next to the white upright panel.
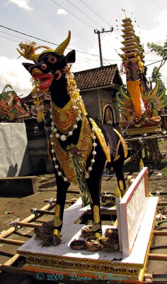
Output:
<path fill-rule="evenodd" d="M 118 160 L 112 163 L 113 170 L 115 171 L 117 177 L 117 185 L 120 189 L 121 197 L 125 195 L 126 192 L 126 184 L 125 178 L 123 173 L 123 166 L 124 166 L 124 158 L 120 157 Z"/>

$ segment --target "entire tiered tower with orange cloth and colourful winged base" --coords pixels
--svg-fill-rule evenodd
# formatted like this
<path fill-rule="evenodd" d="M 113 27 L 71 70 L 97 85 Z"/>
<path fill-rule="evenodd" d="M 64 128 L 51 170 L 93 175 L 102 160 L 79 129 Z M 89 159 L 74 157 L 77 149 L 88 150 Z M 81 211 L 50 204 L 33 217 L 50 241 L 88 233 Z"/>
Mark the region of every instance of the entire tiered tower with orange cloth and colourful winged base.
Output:
<path fill-rule="evenodd" d="M 127 133 L 150 133 L 159 130 L 159 111 L 167 104 L 165 87 L 156 80 L 151 89 L 147 84 L 144 67 L 144 50 L 135 35 L 130 18 L 122 20 L 122 63 L 125 68 L 126 84 L 117 92 L 117 102 L 123 114 L 122 126 Z"/>

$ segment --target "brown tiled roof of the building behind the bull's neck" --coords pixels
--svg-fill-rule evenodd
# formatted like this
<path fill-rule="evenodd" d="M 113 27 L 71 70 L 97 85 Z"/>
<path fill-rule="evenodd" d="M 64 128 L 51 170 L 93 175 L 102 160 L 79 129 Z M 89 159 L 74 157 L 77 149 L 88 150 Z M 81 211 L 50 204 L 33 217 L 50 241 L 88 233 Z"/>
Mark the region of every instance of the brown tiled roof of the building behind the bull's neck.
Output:
<path fill-rule="evenodd" d="M 122 84 L 116 64 L 75 72 L 74 77 L 81 90 L 110 86 L 113 81 L 116 81 L 115 84 Z"/>

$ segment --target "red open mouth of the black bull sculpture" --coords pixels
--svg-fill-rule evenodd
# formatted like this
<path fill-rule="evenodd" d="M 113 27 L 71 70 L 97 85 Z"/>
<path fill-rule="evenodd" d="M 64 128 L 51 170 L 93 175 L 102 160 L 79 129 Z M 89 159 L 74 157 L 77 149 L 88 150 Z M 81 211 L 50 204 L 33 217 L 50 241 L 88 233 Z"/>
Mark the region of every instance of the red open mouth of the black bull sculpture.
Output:
<path fill-rule="evenodd" d="M 52 80 L 54 79 L 54 75 L 50 73 L 42 73 L 42 72 L 32 72 L 32 76 L 35 80 L 40 80 L 39 87 L 40 89 L 48 89 L 52 84 Z"/>

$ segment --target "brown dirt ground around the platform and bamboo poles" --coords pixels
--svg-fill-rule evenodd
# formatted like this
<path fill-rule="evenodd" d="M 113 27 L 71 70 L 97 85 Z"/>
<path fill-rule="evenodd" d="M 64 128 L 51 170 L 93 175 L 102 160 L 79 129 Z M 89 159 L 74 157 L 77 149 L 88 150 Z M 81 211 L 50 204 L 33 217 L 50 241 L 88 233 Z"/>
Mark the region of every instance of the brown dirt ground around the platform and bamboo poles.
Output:
<path fill-rule="evenodd" d="M 149 189 L 153 195 L 156 192 L 160 192 L 160 200 L 166 201 L 167 197 L 167 141 L 159 141 L 159 147 L 161 153 L 163 153 L 163 160 L 161 163 L 157 164 L 145 164 L 149 168 Z M 135 176 L 139 173 L 139 164 L 127 163 L 125 164 L 125 178 L 127 175 Z M 117 180 L 114 173 L 111 176 L 103 176 L 102 180 L 102 192 L 115 192 L 115 186 L 117 185 Z M 50 198 L 56 198 L 56 180 L 54 175 L 45 174 L 38 175 L 38 186 L 39 190 L 34 195 L 29 195 L 27 197 L 3 197 L 0 196 L 0 233 L 9 229 L 12 223 L 21 221 L 28 217 L 31 208 L 42 208 L 45 206 L 44 200 L 50 200 Z M 76 187 L 69 187 L 69 192 L 67 193 L 67 200 L 78 199 L 79 193 Z M 66 207 L 69 207 L 67 204 Z M 167 215 L 167 207 L 158 207 L 158 213 Z M 167 222 L 161 224 L 163 229 L 167 228 Z M 157 228 L 156 228 L 157 229 Z M 8 238 L 27 241 L 33 236 L 33 229 L 31 228 L 21 228 L 16 233 L 11 234 Z M 163 253 L 167 254 L 167 236 L 156 236 L 154 237 L 151 244 L 152 253 Z M 16 254 L 16 249 L 18 246 L 1 244 L 0 243 L 0 263 L 6 263 L 14 254 Z M 167 267 L 165 261 L 149 261 L 147 266 L 147 273 L 153 274 L 166 274 Z M 167 277 L 167 276 L 166 276 Z M 23 282 L 24 276 L 16 276 L 8 273 L 0 274 L 1 284 L 20 284 Z M 161 283 L 167 283 L 167 280 Z"/>

